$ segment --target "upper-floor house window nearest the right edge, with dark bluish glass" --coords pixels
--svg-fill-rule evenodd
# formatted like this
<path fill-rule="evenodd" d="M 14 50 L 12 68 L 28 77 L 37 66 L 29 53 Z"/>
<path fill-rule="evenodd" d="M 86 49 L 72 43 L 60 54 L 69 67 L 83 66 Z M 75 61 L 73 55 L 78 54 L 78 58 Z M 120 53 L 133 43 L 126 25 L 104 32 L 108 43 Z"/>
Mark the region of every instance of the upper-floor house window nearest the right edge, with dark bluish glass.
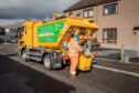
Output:
<path fill-rule="evenodd" d="M 118 12 L 118 3 L 111 3 L 104 6 L 104 14 L 115 14 Z"/>

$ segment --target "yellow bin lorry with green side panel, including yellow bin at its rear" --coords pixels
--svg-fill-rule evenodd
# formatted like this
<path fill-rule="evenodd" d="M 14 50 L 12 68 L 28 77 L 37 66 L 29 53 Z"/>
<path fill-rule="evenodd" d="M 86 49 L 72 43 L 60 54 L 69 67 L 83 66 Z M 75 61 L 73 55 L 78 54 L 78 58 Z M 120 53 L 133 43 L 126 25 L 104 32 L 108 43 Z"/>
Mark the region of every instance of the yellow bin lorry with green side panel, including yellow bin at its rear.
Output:
<path fill-rule="evenodd" d="M 66 62 L 68 48 L 64 44 L 70 41 L 72 34 L 93 34 L 98 25 L 86 19 L 64 18 L 51 22 L 26 21 L 23 28 L 22 38 L 18 42 L 19 54 L 24 61 L 43 62 L 47 70 L 53 70 L 68 63 Z M 90 70 L 92 64 L 92 53 L 86 54 L 86 50 L 90 49 L 87 41 L 89 40 L 78 39 L 78 43 L 82 43 L 84 49 L 78 63 L 78 69 L 82 71 Z"/>

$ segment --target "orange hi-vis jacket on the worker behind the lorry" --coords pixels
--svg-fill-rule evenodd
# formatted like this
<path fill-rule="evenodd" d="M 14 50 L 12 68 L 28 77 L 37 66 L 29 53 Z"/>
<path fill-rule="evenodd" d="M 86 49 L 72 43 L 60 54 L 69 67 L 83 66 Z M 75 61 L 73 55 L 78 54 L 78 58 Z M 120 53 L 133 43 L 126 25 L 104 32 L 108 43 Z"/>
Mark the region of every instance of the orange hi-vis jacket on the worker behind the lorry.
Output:
<path fill-rule="evenodd" d="M 82 51 L 82 48 L 78 44 L 77 40 L 72 39 L 68 42 L 68 55 L 70 56 L 77 56 L 79 54 L 79 51 Z"/>

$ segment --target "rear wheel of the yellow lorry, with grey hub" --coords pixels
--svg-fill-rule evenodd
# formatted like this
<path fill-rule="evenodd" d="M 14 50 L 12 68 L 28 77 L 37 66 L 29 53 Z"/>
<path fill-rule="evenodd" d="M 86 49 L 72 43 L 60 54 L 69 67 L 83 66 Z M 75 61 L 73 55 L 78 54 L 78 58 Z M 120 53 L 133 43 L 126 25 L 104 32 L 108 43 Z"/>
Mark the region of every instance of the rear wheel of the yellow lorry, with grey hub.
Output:
<path fill-rule="evenodd" d="M 52 69 L 52 61 L 49 54 L 45 54 L 43 58 L 43 63 L 46 70 L 51 70 Z"/>

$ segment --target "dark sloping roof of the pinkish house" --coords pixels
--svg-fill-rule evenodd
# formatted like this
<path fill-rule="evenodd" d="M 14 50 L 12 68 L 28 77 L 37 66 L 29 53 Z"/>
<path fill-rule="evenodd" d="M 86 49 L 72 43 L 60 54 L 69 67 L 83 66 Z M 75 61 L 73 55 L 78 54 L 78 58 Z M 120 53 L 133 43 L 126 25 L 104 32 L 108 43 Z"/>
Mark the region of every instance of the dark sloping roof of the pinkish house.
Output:
<path fill-rule="evenodd" d="M 114 1 L 118 1 L 118 0 L 81 0 L 77 3 L 65 9 L 64 12 L 70 12 L 70 11 L 84 9 L 84 8 L 88 8 L 88 7 L 95 7 L 95 6 L 114 2 Z"/>

